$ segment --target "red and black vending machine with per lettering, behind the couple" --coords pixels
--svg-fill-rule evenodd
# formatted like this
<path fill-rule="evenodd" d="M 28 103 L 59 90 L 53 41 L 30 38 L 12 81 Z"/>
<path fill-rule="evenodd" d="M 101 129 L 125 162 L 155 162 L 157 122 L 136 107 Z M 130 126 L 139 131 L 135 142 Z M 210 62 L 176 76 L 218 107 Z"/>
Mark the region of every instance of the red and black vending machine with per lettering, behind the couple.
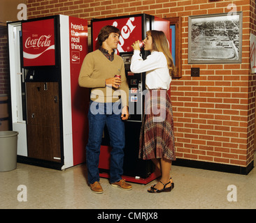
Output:
<path fill-rule="evenodd" d="M 92 50 L 98 49 L 97 36 L 103 26 L 113 25 L 121 31 L 120 43 L 116 53 L 122 56 L 125 63 L 125 73 L 129 84 L 129 119 L 125 122 L 125 158 L 124 178 L 136 183 L 148 183 L 159 176 L 151 160 L 138 159 L 138 141 L 143 118 L 143 91 L 145 90 L 145 73 L 133 73 L 130 70 L 132 43 L 144 40 L 146 32 L 150 29 L 164 31 L 170 43 L 169 21 L 152 15 L 138 14 L 122 17 L 109 17 L 106 19 L 93 19 L 92 24 Z M 143 59 L 149 52 L 141 49 Z M 144 92 L 145 94 L 145 92 Z M 108 177 L 111 146 L 107 128 L 104 128 L 99 160 L 100 176 Z"/>

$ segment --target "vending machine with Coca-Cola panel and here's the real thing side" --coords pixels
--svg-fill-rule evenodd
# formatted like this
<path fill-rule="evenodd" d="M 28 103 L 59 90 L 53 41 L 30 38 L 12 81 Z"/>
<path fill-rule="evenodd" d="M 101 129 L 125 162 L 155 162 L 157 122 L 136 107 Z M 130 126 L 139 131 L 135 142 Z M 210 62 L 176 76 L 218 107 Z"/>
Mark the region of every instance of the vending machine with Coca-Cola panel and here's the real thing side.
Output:
<path fill-rule="evenodd" d="M 87 20 L 66 15 L 8 23 L 17 160 L 54 169 L 85 162 L 89 92 L 78 86 Z"/>

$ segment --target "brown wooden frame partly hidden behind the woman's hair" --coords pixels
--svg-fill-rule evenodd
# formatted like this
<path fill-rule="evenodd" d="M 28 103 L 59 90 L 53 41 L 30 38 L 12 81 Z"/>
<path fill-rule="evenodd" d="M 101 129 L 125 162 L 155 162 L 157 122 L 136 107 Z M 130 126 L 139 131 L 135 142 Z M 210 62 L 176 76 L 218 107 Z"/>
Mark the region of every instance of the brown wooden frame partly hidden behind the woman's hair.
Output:
<path fill-rule="evenodd" d="M 177 79 L 182 77 L 182 58 L 181 58 L 181 17 L 164 17 L 164 20 L 170 22 L 171 33 L 171 55 L 173 63 L 177 69 Z"/>

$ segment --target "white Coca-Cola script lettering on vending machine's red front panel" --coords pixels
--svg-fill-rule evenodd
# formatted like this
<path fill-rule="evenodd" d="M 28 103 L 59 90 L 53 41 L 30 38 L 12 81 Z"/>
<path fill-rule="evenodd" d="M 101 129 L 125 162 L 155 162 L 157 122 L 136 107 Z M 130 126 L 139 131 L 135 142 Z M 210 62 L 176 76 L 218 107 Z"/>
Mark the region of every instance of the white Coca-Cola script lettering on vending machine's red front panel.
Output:
<path fill-rule="evenodd" d="M 37 37 L 38 35 L 32 35 L 32 38 L 29 36 L 27 40 L 25 41 L 25 47 L 30 48 L 30 47 L 50 47 L 50 38 L 52 35 L 42 35 L 39 38 L 34 38 Z"/>

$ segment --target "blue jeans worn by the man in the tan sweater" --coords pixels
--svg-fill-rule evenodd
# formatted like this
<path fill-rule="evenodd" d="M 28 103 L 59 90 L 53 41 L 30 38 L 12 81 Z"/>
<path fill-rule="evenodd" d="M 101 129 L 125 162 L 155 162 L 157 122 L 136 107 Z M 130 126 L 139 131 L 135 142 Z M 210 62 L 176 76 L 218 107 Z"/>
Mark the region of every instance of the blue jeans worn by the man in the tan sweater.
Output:
<path fill-rule="evenodd" d="M 111 143 L 110 183 L 121 180 L 125 148 L 125 123 L 121 119 L 121 103 L 90 102 L 89 138 L 86 146 L 88 183 L 99 181 L 99 153 L 105 124 Z"/>

